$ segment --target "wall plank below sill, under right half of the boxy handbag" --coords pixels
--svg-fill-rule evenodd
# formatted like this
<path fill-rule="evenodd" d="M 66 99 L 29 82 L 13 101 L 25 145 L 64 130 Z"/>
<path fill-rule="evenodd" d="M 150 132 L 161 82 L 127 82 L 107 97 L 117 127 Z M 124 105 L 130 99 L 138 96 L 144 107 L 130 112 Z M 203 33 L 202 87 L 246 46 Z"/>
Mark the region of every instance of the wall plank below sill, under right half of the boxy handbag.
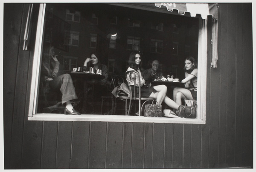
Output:
<path fill-rule="evenodd" d="M 163 168 L 164 161 L 164 124 L 154 123 L 152 168 Z"/>

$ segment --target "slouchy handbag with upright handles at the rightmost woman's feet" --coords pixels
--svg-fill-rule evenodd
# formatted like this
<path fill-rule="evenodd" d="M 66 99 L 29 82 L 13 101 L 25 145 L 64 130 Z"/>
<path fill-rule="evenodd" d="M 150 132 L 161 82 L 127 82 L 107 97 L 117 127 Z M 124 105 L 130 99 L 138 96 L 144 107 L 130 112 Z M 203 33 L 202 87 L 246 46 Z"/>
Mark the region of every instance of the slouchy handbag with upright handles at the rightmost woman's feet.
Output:
<path fill-rule="evenodd" d="M 192 106 L 180 105 L 176 111 L 176 115 L 180 118 L 196 118 L 197 104 L 194 101 Z"/>

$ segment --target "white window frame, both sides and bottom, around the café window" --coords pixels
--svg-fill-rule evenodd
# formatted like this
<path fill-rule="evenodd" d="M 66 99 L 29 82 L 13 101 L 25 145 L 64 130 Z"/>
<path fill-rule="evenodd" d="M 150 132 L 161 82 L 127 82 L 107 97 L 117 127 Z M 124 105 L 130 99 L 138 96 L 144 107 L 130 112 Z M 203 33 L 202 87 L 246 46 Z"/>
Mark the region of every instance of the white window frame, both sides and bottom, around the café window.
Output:
<path fill-rule="evenodd" d="M 36 113 L 38 99 L 38 81 L 41 68 L 41 54 L 46 4 L 40 4 L 35 38 L 35 51 L 32 66 L 32 80 L 29 97 L 28 120 L 51 121 L 105 121 L 105 122 L 142 122 L 142 123 L 194 123 L 205 124 L 206 121 L 206 80 L 207 80 L 207 20 L 200 20 L 198 35 L 198 108 L 196 119 L 146 118 L 125 115 L 64 115 Z"/>

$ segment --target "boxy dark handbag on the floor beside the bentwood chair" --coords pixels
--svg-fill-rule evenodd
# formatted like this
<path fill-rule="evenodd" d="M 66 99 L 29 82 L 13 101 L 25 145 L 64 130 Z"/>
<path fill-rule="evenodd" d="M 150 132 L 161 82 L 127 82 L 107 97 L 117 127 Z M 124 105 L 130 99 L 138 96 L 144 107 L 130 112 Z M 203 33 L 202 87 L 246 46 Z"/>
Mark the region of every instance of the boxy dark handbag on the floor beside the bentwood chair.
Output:
<path fill-rule="evenodd" d="M 153 104 L 153 102 L 156 100 L 153 100 L 151 104 L 146 104 L 144 106 L 144 117 L 162 117 L 162 105 Z"/>

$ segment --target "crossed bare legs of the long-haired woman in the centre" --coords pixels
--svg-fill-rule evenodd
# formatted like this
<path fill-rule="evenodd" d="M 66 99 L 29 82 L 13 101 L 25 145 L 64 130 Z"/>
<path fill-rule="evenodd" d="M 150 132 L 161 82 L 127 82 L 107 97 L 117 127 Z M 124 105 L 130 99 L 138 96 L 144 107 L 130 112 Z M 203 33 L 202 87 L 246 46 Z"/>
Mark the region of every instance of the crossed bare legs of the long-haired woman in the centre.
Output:
<path fill-rule="evenodd" d="M 154 89 L 157 92 L 152 92 L 149 97 L 153 97 L 154 99 L 156 99 L 158 104 L 162 104 L 164 102 L 167 106 L 173 109 L 178 109 L 179 105 L 166 96 L 167 87 L 165 85 L 154 86 Z"/>

